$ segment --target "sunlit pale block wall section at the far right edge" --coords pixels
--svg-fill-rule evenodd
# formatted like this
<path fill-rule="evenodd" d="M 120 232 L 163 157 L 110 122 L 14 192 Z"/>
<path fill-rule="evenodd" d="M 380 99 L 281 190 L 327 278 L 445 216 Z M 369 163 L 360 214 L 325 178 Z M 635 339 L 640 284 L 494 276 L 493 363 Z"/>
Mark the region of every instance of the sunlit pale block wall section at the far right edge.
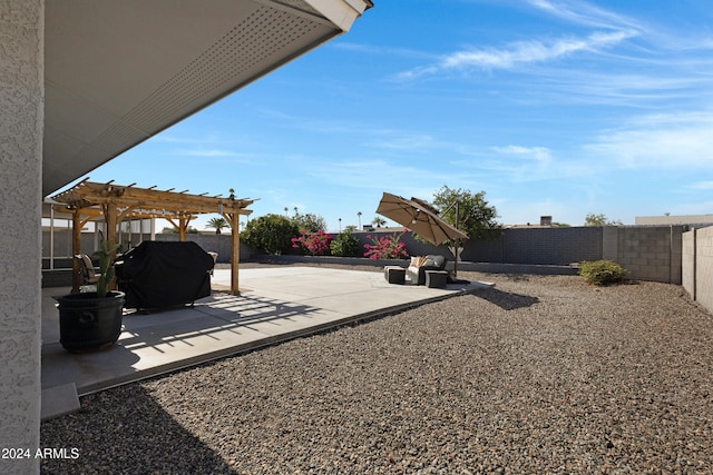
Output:
<path fill-rule="evenodd" d="M 683 275 L 691 297 L 713 311 L 713 227 L 684 234 Z"/>

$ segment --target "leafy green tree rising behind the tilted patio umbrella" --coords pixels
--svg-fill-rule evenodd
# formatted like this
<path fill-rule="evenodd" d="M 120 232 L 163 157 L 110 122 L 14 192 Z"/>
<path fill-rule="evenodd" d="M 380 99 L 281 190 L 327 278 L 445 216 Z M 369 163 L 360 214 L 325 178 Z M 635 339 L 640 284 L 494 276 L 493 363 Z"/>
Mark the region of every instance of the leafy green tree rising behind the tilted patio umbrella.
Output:
<path fill-rule="evenodd" d="M 477 194 L 461 188 L 451 189 L 447 185 L 433 195 L 433 205 L 441 211 L 440 217 L 448 224 L 457 226 L 470 239 L 491 237 L 500 228 L 496 221 L 498 211 L 488 205 L 486 192 Z M 456 210 L 460 215 L 456 216 Z"/>

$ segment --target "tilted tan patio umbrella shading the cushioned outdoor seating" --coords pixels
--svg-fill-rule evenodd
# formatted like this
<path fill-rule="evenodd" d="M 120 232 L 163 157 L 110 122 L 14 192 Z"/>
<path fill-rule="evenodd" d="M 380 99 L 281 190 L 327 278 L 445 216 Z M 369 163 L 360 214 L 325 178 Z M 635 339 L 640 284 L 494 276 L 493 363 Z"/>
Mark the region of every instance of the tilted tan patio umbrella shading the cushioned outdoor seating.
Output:
<path fill-rule="evenodd" d="M 417 198 L 406 199 L 384 192 L 377 212 L 411 229 L 432 245 L 453 241 L 453 274 L 458 275 L 459 240 L 468 239 L 468 235 L 441 219 L 431 205 Z"/>

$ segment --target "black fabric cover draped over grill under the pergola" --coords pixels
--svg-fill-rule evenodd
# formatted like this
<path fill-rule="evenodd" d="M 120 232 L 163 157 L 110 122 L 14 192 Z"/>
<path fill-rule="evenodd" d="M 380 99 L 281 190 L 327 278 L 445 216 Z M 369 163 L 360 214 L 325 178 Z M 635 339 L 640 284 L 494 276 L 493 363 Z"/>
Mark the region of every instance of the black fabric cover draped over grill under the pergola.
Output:
<path fill-rule="evenodd" d="M 144 241 L 116 263 L 126 308 L 193 304 L 211 295 L 213 257 L 195 243 Z"/>

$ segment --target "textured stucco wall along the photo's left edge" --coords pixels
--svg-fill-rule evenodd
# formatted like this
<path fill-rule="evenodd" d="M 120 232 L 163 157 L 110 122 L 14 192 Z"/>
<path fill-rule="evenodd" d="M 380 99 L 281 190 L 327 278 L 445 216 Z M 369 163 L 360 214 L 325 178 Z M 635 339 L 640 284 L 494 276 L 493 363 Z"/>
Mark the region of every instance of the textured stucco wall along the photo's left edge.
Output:
<path fill-rule="evenodd" d="M 40 420 L 43 29 L 42 0 L 0 0 L 0 448 L 32 455 Z M 0 458 L 0 473 L 37 472 L 38 459 Z"/>

